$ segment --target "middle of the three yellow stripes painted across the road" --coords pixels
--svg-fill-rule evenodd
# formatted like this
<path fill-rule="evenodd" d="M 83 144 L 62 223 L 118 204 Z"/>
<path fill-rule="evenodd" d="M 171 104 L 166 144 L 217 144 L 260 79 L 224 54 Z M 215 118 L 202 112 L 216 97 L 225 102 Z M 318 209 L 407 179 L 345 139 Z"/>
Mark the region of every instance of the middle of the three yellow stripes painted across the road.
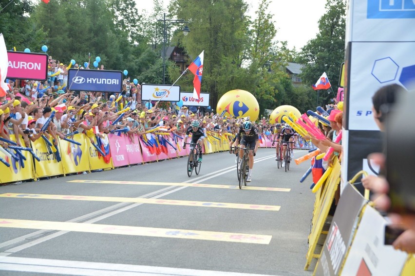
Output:
<path fill-rule="evenodd" d="M 281 206 L 276 205 L 257 205 L 239 204 L 224 202 L 205 202 L 189 200 L 170 200 L 154 198 L 133 198 L 133 197 L 106 197 L 106 196 L 83 196 L 83 195 L 61 195 L 61 194 L 28 194 L 28 193 L 3 193 L 0 197 L 9 198 L 30 198 L 30 199 L 61 199 L 61 200 L 81 200 L 81 201 L 106 201 L 106 202 L 131 202 L 144 204 L 161 204 L 175 206 L 197 206 L 197 207 L 216 207 L 249 210 L 279 211 Z"/>

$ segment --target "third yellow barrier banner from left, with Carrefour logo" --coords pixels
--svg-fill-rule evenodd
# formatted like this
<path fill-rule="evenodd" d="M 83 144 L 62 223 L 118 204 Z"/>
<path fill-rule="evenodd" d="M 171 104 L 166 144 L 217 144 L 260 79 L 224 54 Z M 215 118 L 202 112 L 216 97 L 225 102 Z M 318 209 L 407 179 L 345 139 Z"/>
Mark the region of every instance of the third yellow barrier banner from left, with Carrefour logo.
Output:
<path fill-rule="evenodd" d="M 62 155 L 63 172 L 66 173 L 78 173 L 78 172 L 89 172 L 89 148 L 87 144 L 87 138 L 84 134 L 78 133 L 74 137 L 69 139 L 80 143 L 75 143 L 60 140 L 59 148 Z M 89 139 L 88 139 L 89 140 Z"/>

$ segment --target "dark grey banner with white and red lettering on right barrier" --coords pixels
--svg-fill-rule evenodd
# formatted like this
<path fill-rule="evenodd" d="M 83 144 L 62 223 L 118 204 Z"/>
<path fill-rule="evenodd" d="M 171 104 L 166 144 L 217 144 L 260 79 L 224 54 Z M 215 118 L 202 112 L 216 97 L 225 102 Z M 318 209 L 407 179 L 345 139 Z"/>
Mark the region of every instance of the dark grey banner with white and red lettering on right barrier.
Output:
<path fill-rule="evenodd" d="M 344 188 L 315 275 L 339 275 L 344 256 L 352 242 L 352 231 L 365 203 L 364 197 L 351 184 Z"/>

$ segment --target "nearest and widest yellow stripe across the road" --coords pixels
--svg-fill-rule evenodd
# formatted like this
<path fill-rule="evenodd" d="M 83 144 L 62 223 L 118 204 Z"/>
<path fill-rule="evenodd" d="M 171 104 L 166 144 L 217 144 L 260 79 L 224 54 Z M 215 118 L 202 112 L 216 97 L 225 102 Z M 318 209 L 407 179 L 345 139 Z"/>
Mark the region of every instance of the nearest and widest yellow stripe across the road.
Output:
<path fill-rule="evenodd" d="M 217 242 L 244 242 L 269 244 L 272 236 L 243 233 L 211 232 L 186 229 L 168 229 L 139 226 L 123 226 L 111 224 L 85 224 L 50 221 L 13 220 L 0 218 L 0 227 L 47 229 L 60 231 L 75 231 L 101 234 L 146 236 L 159 238 L 192 239 Z"/>

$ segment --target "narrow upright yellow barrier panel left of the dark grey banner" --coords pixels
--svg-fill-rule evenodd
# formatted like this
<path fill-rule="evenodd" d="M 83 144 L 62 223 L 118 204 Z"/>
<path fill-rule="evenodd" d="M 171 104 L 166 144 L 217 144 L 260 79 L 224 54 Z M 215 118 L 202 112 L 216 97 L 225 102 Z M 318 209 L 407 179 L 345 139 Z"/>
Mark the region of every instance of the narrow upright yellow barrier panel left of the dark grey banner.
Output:
<path fill-rule="evenodd" d="M 334 194 L 336 193 L 337 187 L 340 183 L 340 163 L 337 158 L 335 158 L 333 162 L 333 169 L 332 173 L 328 177 L 327 184 L 325 186 L 326 192 L 323 194 L 323 201 L 321 203 L 320 211 L 318 212 L 318 216 L 316 219 L 316 223 L 312 225 L 310 235 L 308 236 L 308 252 L 306 254 L 306 263 L 304 270 L 308 269 L 308 266 L 310 265 L 310 262 L 313 258 L 320 257 L 320 253 L 316 254 L 316 245 L 319 241 L 323 225 L 327 219 L 327 215 L 329 212 L 329 209 L 332 205 Z"/>

